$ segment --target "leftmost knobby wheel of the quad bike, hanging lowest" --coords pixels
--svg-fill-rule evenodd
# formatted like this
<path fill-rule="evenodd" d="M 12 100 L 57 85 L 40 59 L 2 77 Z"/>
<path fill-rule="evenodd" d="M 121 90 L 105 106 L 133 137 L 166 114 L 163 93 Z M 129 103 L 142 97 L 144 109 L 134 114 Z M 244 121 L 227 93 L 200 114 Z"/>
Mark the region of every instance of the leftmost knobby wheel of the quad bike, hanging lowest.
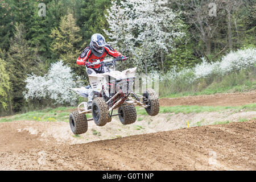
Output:
<path fill-rule="evenodd" d="M 88 129 L 88 122 L 85 114 L 79 114 L 79 111 L 73 111 L 69 114 L 69 125 L 74 134 L 79 135 L 86 133 Z"/>

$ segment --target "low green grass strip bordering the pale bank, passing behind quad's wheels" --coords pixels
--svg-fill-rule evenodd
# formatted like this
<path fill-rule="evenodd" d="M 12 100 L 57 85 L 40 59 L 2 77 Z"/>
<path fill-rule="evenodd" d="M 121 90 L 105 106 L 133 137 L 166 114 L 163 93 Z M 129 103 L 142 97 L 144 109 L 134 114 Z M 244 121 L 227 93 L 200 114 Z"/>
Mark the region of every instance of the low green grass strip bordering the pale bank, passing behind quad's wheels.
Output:
<path fill-rule="evenodd" d="M 39 111 L 30 111 L 24 114 L 16 114 L 10 117 L 0 118 L 0 122 L 11 122 L 11 121 L 46 121 L 46 122 L 58 122 L 64 121 L 69 122 L 69 114 L 72 110 L 75 110 L 76 107 L 58 107 L 55 109 L 47 108 Z M 203 112 L 213 112 L 213 111 L 255 111 L 256 104 L 249 104 L 243 106 L 164 106 L 160 107 L 159 113 L 203 113 Z M 146 110 L 141 107 L 137 107 L 138 115 L 147 115 Z M 86 114 L 87 118 L 91 118 L 92 114 Z M 138 121 L 142 121 L 143 117 L 138 117 Z"/>

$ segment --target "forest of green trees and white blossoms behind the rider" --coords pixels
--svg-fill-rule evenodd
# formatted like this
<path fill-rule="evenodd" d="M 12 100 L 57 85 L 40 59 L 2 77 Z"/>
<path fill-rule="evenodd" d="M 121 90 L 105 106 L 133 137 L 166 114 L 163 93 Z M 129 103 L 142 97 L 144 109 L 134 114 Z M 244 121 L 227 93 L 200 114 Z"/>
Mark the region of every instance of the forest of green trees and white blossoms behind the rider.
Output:
<path fill-rule="evenodd" d="M 119 69 L 158 72 L 160 96 L 201 92 L 224 84 L 224 78 L 227 86 L 256 89 L 254 0 L 0 0 L 0 5 L 0 116 L 75 105 L 79 98 L 63 88 L 88 84 L 76 60 L 95 33 L 129 57 Z"/>

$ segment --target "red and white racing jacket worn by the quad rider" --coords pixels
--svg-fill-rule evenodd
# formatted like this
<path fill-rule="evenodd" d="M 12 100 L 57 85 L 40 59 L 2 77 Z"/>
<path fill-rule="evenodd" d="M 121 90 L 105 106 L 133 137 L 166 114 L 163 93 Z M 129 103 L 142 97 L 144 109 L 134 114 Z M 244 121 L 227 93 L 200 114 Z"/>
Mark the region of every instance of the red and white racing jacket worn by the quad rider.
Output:
<path fill-rule="evenodd" d="M 103 61 L 107 55 L 110 55 L 112 57 L 118 57 L 122 55 L 121 53 L 115 51 L 115 49 L 109 45 L 106 45 L 104 48 L 105 48 L 105 51 L 103 55 L 101 57 L 97 57 L 92 53 L 90 46 L 86 47 L 84 51 L 82 51 L 79 58 L 77 59 L 76 63 L 79 65 L 85 65 L 85 62 L 88 62 L 88 61 L 90 63 L 93 63 L 97 60 Z M 93 67 L 89 67 L 89 68 L 99 68 L 100 66 L 101 66 L 100 64 L 96 64 Z"/>

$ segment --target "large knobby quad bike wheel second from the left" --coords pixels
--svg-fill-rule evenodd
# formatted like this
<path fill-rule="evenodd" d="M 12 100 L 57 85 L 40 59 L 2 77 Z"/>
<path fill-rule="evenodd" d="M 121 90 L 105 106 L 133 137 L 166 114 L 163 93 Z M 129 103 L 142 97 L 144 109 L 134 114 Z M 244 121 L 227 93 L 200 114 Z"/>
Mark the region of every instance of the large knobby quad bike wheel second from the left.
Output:
<path fill-rule="evenodd" d="M 109 109 L 102 97 L 94 98 L 92 102 L 92 116 L 97 126 L 104 126 L 111 121 Z"/>

